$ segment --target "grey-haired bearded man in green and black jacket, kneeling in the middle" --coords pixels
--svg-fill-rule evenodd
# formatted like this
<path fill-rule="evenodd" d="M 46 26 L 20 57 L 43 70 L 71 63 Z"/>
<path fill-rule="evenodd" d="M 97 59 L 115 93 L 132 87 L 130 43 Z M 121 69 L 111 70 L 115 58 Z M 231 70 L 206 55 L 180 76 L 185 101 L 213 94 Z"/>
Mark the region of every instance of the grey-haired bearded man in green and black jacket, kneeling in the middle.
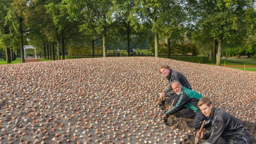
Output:
<path fill-rule="evenodd" d="M 203 123 L 203 120 L 206 119 L 204 127 L 211 125 L 211 121 L 203 115 L 197 106 L 198 101 L 203 97 L 195 91 L 183 87 L 179 81 L 171 82 L 171 87 L 173 91 L 178 95 L 178 102 L 175 106 L 171 107 L 168 111 L 165 112 L 164 117 L 167 118 L 171 114 L 174 114 L 177 111 L 182 110 L 184 107 L 187 107 L 188 110 L 184 113 L 186 115 L 194 115 L 193 127 L 199 129 Z"/>

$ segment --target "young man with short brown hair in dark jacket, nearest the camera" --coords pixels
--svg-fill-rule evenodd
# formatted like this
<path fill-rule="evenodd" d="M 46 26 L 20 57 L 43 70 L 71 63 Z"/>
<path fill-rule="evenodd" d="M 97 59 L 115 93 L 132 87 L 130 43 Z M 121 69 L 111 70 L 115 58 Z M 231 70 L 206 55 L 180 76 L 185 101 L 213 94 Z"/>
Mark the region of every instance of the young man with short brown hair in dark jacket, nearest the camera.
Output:
<path fill-rule="evenodd" d="M 203 134 L 197 132 L 197 137 L 207 139 L 203 144 L 252 144 L 252 139 L 244 126 L 230 113 L 213 107 L 212 103 L 203 97 L 198 102 L 202 113 L 212 119 L 212 129 Z"/>

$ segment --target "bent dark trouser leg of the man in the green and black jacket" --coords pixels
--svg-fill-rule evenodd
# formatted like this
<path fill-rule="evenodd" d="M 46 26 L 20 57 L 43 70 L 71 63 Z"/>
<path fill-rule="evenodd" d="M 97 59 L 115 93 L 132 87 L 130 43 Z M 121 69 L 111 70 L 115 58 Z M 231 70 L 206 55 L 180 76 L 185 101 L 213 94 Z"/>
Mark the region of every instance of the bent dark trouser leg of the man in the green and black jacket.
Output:
<path fill-rule="evenodd" d="M 195 129 L 200 129 L 204 119 L 206 119 L 206 123 L 204 124 L 204 128 L 209 127 L 209 126 L 212 125 L 212 120 L 211 119 L 208 119 L 206 116 L 204 116 L 204 114 L 201 111 L 197 111 L 196 116 L 194 117 L 193 127 Z"/>

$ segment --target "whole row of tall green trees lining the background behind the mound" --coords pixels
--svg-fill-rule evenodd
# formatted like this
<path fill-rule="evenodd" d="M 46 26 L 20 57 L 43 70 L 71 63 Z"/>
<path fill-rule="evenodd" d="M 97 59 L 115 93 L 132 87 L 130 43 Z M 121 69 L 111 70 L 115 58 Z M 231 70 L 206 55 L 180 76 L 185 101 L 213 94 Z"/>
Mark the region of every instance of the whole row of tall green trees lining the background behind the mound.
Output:
<path fill-rule="evenodd" d="M 129 56 L 131 36 L 139 36 L 155 57 L 165 47 L 169 57 L 174 47 L 181 54 L 200 49 L 211 52 L 213 62 L 217 52 L 220 65 L 222 47 L 255 53 L 254 6 L 253 0 L 2 0 L 0 47 L 7 63 L 17 47 L 25 62 L 25 44 L 44 55 L 56 48 L 57 58 L 65 59 L 66 46 L 90 43 L 94 57 L 101 40 L 106 57 L 110 43 L 126 41 Z"/>

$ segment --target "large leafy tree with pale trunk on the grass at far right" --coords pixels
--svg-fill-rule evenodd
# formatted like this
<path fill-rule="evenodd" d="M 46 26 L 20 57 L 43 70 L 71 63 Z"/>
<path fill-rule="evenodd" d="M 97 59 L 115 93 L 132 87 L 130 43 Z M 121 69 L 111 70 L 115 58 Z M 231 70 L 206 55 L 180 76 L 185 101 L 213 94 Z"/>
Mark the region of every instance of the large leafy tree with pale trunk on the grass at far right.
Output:
<path fill-rule="evenodd" d="M 197 10 L 198 12 L 200 12 L 202 26 L 210 25 L 211 30 L 209 33 L 209 37 L 213 37 L 218 41 L 217 65 L 220 66 L 223 41 L 237 38 L 241 31 L 246 30 L 246 10 L 252 8 L 253 1 L 199 0 L 197 5 Z"/>

